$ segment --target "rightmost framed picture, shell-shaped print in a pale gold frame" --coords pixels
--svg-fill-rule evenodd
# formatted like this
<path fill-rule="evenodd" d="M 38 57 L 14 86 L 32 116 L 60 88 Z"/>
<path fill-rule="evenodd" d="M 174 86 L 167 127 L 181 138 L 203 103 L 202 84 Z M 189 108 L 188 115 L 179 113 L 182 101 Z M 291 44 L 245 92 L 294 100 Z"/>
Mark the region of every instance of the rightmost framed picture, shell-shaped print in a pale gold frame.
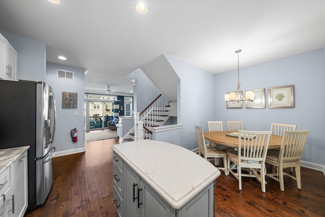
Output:
<path fill-rule="evenodd" d="M 294 85 L 269 87 L 269 108 L 294 108 Z"/>

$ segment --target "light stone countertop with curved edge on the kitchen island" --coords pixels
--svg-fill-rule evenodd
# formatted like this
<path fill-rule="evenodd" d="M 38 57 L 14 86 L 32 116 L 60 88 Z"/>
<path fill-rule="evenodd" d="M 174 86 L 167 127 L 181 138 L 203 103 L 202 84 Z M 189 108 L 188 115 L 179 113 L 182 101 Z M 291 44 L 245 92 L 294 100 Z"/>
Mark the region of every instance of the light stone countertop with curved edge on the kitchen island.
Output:
<path fill-rule="evenodd" d="M 221 174 L 193 151 L 166 142 L 138 140 L 112 149 L 175 209 Z"/>

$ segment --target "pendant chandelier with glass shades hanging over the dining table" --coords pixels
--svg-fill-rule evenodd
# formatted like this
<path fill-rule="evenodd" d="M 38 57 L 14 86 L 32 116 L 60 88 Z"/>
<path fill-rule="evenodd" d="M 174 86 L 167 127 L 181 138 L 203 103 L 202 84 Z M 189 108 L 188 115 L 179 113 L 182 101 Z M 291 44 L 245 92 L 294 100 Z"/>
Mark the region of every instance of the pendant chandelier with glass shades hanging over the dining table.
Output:
<path fill-rule="evenodd" d="M 239 103 L 239 102 L 253 102 L 254 93 L 252 91 L 246 91 L 245 97 L 243 97 L 242 91 L 240 90 L 240 82 L 239 82 L 239 52 L 242 50 L 236 50 L 235 53 L 238 54 L 238 82 L 237 82 L 237 90 L 236 92 L 230 92 L 229 94 L 224 95 L 224 101 L 226 103 Z"/>

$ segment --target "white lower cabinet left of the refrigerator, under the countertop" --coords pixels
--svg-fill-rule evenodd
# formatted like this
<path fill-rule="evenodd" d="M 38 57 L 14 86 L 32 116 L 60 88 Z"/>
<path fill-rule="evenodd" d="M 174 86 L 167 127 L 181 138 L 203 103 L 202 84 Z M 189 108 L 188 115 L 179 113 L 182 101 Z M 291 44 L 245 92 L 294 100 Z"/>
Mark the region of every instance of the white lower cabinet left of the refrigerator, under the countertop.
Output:
<path fill-rule="evenodd" d="M 27 151 L 0 174 L 0 217 L 22 217 L 28 205 Z"/>

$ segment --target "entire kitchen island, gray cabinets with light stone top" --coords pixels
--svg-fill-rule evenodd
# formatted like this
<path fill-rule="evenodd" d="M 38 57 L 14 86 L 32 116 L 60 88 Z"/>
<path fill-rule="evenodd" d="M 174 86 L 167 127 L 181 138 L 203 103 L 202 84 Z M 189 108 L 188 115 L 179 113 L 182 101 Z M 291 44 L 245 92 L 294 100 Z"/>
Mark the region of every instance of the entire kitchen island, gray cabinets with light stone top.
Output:
<path fill-rule="evenodd" d="M 220 171 L 198 154 L 154 140 L 112 149 L 117 216 L 214 216 L 214 183 Z"/>

